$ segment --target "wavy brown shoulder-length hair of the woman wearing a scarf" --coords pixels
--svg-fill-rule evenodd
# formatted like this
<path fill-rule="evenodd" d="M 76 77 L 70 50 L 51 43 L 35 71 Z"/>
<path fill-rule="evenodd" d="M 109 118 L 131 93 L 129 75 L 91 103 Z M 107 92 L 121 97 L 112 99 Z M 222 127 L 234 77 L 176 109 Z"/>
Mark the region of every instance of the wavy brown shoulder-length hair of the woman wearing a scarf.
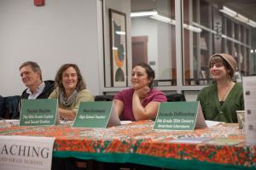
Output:
<path fill-rule="evenodd" d="M 56 77 L 55 77 L 55 88 L 61 88 L 61 90 L 65 91 L 63 84 L 62 84 L 62 74 L 69 67 L 73 67 L 73 69 L 77 72 L 78 83 L 77 83 L 76 89 L 78 90 L 78 92 L 85 89 L 86 85 L 85 85 L 85 82 L 83 80 L 83 77 L 81 75 L 81 71 L 79 70 L 78 65 L 69 64 L 69 63 L 65 64 L 65 65 L 61 65 L 61 68 L 57 72 Z"/>

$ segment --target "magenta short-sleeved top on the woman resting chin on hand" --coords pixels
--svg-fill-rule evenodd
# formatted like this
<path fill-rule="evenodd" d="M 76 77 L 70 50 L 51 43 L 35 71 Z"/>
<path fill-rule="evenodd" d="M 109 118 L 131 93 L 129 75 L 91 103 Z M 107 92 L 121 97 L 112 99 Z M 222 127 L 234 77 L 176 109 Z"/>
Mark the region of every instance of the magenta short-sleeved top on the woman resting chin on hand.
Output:
<path fill-rule="evenodd" d="M 129 88 L 119 92 L 119 94 L 116 94 L 114 96 L 114 99 L 119 99 L 124 103 L 124 109 L 123 109 L 121 120 L 135 121 L 135 117 L 132 112 L 133 93 L 134 93 L 134 89 Z M 146 98 L 143 99 L 143 103 L 142 103 L 143 107 L 148 105 L 148 103 L 150 103 L 151 101 L 166 102 L 167 101 L 166 95 L 160 92 L 159 90 L 152 88 L 150 89 Z"/>

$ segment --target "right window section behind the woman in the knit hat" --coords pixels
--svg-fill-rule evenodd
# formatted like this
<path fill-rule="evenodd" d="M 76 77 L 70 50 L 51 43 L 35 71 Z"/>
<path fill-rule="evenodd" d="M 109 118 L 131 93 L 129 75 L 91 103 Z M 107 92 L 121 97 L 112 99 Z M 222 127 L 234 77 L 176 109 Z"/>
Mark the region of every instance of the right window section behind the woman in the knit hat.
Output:
<path fill-rule="evenodd" d="M 183 0 L 183 85 L 208 85 L 212 82 L 208 62 L 216 53 L 232 55 L 238 71 L 249 71 L 251 29 L 204 0 Z M 190 26 L 188 29 L 186 26 Z"/>

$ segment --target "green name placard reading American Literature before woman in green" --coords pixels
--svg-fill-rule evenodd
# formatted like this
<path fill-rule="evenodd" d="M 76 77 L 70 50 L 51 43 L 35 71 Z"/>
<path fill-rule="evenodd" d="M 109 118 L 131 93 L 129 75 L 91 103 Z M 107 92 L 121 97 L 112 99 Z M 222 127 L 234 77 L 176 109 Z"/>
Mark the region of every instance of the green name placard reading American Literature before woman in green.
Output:
<path fill-rule="evenodd" d="M 153 129 L 194 130 L 207 127 L 199 102 L 161 103 Z"/>

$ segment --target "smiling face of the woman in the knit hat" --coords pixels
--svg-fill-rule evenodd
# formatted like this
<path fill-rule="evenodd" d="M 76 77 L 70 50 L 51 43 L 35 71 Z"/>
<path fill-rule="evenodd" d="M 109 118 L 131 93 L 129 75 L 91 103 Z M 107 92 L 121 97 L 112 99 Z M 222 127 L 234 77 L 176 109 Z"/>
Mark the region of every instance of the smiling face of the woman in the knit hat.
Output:
<path fill-rule="evenodd" d="M 215 57 L 210 62 L 210 73 L 214 81 L 229 80 L 230 70 L 224 65 L 224 59 Z"/>

